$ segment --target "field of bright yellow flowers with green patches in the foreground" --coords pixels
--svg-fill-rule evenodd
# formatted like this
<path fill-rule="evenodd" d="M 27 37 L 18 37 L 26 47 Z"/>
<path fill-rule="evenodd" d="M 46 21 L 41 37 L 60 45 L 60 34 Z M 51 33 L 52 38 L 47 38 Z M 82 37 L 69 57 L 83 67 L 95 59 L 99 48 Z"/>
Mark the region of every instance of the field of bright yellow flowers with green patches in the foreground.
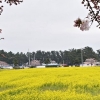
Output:
<path fill-rule="evenodd" d="M 100 100 L 100 67 L 1 69 L 0 100 Z"/>

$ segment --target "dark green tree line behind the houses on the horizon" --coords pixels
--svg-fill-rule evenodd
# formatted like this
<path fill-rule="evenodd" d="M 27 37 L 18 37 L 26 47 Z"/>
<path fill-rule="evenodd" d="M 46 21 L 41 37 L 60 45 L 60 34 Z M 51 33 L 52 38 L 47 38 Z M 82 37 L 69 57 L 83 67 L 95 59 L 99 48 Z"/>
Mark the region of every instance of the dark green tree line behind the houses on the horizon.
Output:
<path fill-rule="evenodd" d="M 55 61 L 58 64 L 79 65 L 82 63 L 81 58 L 85 61 L 88 58 L 95 58 L 100 61 L 100 49 L 97 52 L 93 51 L 91 47 L 84 47 L 82 49 L 69 49 L 64 51 L 41 51 L 36 52 L 6 52 L 0 50 L 0 61 L 5 61 L 8 64 L 23 65 L 32 60 L 39 60 L 41 63 L 50 63 Z"/>

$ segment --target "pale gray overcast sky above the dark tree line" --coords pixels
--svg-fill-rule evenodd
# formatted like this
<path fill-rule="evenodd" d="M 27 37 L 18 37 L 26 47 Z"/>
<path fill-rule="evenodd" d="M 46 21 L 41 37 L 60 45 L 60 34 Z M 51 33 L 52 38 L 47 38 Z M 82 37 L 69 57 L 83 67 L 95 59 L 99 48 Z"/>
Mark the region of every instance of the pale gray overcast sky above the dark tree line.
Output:
<path fill-rule="evenodd" d="M 82 0 L 81 0 L 82 1 Z M 26 53 L 37 50 L 69 50 L 86 46 L 100 49 L 100 30 L 94 23 L 89 31 L 73 27 L 88 10 L 80 0 L 24 0 L 18 6 L 4 4 L 0 16 L 0 49 Z"/>

